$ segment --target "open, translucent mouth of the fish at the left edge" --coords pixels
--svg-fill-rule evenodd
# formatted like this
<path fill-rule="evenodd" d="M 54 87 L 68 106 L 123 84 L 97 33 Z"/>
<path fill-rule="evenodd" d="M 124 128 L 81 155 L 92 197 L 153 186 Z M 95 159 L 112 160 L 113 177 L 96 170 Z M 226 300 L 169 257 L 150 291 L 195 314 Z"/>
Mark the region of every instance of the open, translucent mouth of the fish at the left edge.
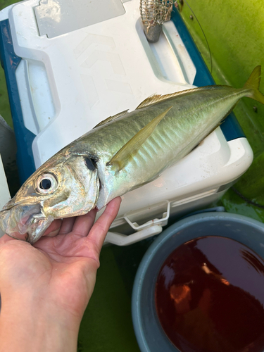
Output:
<path fill-rule="evenodd" d="M 0 211 L 0 227 L 15 239 L 34 244 L 54 220 L 46 217 L 41 204 L 28 205 L 9 201 Z"/>

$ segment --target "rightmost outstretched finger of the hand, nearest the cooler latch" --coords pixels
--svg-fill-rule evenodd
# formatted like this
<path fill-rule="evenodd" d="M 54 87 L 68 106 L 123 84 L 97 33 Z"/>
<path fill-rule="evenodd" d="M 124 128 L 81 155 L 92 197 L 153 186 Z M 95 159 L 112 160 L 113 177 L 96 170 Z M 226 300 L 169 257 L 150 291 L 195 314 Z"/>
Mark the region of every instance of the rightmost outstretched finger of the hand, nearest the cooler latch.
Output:
<path fill-rule="evenodd" d="M 106 234 L 111 226 L 113 220 L 115 220 L 116 215 L 118 215 L 118 210 L 120 208 L 121 198 L 117 197 L 108 203 L 106 210 L 96 220 L 92 230 L 90 231 L 87 239 L 92 241 L 97 247 L 98 251 L 101 251 L 103 246 L 103 241 L 106 239 Z"/>

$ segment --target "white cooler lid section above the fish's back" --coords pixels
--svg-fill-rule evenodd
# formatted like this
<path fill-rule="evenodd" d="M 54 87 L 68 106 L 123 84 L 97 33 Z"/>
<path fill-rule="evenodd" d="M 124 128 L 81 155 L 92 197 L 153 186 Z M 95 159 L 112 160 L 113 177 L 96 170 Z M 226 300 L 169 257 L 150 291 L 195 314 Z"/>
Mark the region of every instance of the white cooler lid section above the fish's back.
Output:
<path fill-rule="evenodd" d="M 9 11 L 15 54 L 34 71 L 27 74 L 28 97 L 23 87 L 18 89 L 22 106 L 28 101 L 34 106 L 31 117 L 24 114 L 24 118 L 27 128 L 34 133 L 37 129 L 33 143 L 37 168 L 108 116 L 134 110 L 153 93 L 176 92 L 192 84 L 196 69 L 180 37 L 173 32 L 170 41 L 164 36 L 157 44 L 162 46 L 158 51 L 166 54 L 162 62 L 144 36 L 137 0 L 122 4 L 124 15 L 54 38 L 39 36 L 33 10 L 38 4 L 23 1 Z M 179 55 L 172 50 L 172 42 Z M 188 74 L 182 72 L 182 60 L 188 63 Z M 25 80 L 21 75 L 23 70 L 18 68 L 18 82 Z M 42 87 L 36 89 L 33 79 Z M 48 109 L 54 113 L 48 115 Z"/>

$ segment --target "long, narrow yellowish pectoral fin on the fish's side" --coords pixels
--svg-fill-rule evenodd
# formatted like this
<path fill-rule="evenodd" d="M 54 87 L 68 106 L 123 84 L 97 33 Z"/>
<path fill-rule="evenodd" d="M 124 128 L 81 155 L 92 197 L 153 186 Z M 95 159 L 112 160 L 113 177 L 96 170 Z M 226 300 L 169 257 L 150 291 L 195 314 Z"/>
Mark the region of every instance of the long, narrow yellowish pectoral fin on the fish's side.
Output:
<path fill-rule="evenodd" d="M 146 126 L 137 132 L 137 134 L 135 134 L 132 139 L 130 139 L 124 146 L 122 146 L 122 148 L 113 156 L 113 158 L 111 158 L 111 160 L 106 163 L 106 166 L 116 166 L 118 170 L 124 168 L 125 165 L 127 165 L 127 163 L 129 163 L 133 156 L 137 153 L 137 151 L 139 151 L 140 147 L 146 141 L 146 139 L 149 138 L 153 130 L 155 130 L 158 122 L 164 118 L 164 116 L 170 111 L 171 108 L 172 106 L 170 106 L 160 115 L 156 116 L 156 118 L 153 118 L 151 122 L 146 124 Z"/>

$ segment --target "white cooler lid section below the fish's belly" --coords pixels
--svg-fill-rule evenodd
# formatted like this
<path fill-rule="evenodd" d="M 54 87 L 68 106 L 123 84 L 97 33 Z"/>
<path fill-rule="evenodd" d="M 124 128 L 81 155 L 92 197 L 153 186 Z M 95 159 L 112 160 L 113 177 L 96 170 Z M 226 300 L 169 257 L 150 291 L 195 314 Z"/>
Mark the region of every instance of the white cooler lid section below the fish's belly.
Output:
<path fill-rule="evenodd" d="M 204 192 L 214 193 L 222 184 L 237 180 L 253 160 L 246 138 L 227 142 L 220 127 L 161 177 L 122 196 L 120 213 L 148 208 L 161 201 L 186 202 Z M 185 201 L 186 200 L 186 201 Z"/>

